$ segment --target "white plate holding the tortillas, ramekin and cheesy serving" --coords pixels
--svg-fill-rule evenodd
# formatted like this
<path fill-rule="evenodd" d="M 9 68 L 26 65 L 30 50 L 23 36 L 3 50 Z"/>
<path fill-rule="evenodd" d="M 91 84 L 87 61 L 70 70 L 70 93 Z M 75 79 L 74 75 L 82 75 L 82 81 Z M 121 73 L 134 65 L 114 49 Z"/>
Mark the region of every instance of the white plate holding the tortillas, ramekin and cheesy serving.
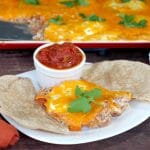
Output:
<path fill-rule="evenodd" d="M 35 71 L 22 73 L 19 74 L 19 76 L 30 78 L 34 86 L 39 89 L 38 83 L 36 81 Z M 33 139 L 47 143 L 69 145 L 88 143 L 92 141 L 110 138 L 136 127 L 150 117 L 150 103 L 132 101 L 130 103 L 130 108 L 127 109 L 121 116 L 113 118 L 109 126 L 96 129 L 84 129 L 81 132 L 74 132 L 68 135 L 27 129 L 15 122 L 14 120 L 10 119 L 9 117 L 5 115 L 3 116 L 19 131 Z"/>

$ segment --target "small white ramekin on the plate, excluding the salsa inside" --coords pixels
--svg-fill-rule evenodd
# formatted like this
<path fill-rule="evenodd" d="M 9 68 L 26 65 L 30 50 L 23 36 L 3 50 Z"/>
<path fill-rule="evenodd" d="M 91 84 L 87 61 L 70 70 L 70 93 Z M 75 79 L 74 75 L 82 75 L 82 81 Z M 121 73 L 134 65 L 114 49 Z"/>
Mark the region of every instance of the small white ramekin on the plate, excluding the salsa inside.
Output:
<path fill-rule="evenodd" d="M 38 59 L 36 58 L 37 53 L 41 49 L 51 46 L 51 45 L 52 44 L 44 44 L 44 45 L 38 47 L 33 54 L 33 60 L 34 60 L 34 66 L 36 68 L 37 80 L 38 80 L 40 86 L 42 88 L 53 87 L 65 80 L 80 79 L 81 73 L 83 70 L 83 66 L 86 61 L 85 53 L 79 47 L 77 47 L 83 55 L 83 59 L 82 59 L 81 63 L 79 65 L 69 68 L 69 69 L 57 70 L 57 69 L 46 67 L 45 65 L 40 63 L 38 61 Z"/>

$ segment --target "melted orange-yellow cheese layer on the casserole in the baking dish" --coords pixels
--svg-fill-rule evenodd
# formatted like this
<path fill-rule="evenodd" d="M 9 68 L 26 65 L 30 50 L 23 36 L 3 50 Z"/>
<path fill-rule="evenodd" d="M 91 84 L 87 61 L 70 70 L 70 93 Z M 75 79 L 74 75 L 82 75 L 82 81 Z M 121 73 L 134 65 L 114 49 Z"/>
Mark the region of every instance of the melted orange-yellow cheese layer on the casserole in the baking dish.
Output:
<path fill-rule="evenodd" d="M 89 0 L 88 6 L 72 8 L 59 2 L 59 0 L 40 0 L 40 5 L 29 5 L 24 0 L 2 0 L 0 1 L 0 19 L 29 21 L 32 17 L 36 19 L 37 16 L 42 16 L 45 28 L 44 36 L 41 37 L 49 41 L 150 40 L 149 0 L 144 2 L 131 0 L 127 3 L 121 3 L 120 0 Z M 79 13 L 87 16 L 95 14 L 105 18 L 106 21 L 84 21 Z M 137 20 L 142 16 L 142 19 L 148 21 L 147 27 L 127 28 L 118 24 L 120 13 L 135 15 Z M 49 23 L 50 18 L 57 16 L 62 16 L 65 24 Z"/>

